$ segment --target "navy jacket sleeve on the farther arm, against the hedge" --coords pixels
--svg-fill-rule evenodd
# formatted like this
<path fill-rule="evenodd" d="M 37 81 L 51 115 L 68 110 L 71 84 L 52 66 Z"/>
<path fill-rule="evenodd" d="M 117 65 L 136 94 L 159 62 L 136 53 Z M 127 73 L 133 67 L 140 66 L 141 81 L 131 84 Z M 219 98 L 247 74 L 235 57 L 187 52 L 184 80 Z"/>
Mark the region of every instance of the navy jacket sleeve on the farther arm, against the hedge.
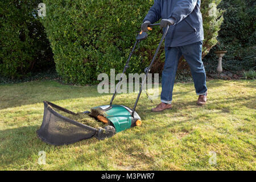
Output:
<path fill-rule="evenodd" d="M 155 0 L 154 5 L 148 11 L 148 14 L 144 18 L 143 22 L 146 20 L 150 21 L 150 23 L 155 23 L 161 18 L 161 9 L 159 5 L 159 0 Z"/>

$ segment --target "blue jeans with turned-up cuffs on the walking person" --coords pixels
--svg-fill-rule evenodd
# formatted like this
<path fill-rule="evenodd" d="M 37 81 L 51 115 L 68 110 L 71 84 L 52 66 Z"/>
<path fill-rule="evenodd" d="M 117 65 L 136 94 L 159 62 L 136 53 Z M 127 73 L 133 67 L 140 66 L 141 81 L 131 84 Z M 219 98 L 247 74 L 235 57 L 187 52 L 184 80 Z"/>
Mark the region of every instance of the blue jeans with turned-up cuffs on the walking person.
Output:
<path fill-rule="evenodd" d="M 206 74 L 201 59 L 203 41 L 180 47 L 166 47 L 166 60 L 162 73 L 161 102 L 171 104 L 172 90 L 177 71 L 177 64 L 183 55 L 187 60 L 193 76 L 197 95 L 207 94 Z"/>

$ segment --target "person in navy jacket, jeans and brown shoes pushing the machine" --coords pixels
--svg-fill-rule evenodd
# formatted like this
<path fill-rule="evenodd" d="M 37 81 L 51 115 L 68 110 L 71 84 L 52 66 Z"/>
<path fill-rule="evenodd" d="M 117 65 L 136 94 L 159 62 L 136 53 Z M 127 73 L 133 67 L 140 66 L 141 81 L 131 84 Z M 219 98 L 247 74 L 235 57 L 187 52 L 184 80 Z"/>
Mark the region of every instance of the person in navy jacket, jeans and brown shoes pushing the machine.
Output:
<path fill-rule="evenodd" d="M 162 72 L 161 103 L 152 109 L 154 112 L 172 108 L 172 90 L 182 55 L 191 68 L 196 94 L 199 95 L 197 105 L 207 102 L 206 74 L 201 60 L 204 30 L 200 3 L 201 0 L 155 0 L 143 20 L 142 31 L 147 31 L 150 24 L 161 18 L 163 31 L 170 26 L 164 48 L 166 60 Z"/>

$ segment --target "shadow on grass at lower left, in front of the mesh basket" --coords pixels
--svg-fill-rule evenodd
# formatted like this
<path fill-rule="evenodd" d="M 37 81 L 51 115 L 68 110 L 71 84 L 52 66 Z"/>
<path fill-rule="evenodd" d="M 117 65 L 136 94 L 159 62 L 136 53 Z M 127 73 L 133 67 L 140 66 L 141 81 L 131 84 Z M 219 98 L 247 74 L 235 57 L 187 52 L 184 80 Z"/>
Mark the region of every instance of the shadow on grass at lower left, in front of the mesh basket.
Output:
<path fill-rule="evenodd" d="M 64 145 L 53 146 L 51 144 L 44 143 L 36 135 L 36 130 L 40 126 L 26 126 L 18 127 L 15 129 L 0 130 L 0 156 L 1 167 L 5 168 L 13 163 L 22 164 L 24 166 L 24 160 L 29 161 L 37 165 L 38 152 L 39 151 L 58 151 L 61 148 L 73 147 L 80 142 Z M 96 143 L 97 139 L 85 139 L 82 140 L 85 144 Z M 36 156 L 36 160 L 32 160 L 31 156 Z"/>

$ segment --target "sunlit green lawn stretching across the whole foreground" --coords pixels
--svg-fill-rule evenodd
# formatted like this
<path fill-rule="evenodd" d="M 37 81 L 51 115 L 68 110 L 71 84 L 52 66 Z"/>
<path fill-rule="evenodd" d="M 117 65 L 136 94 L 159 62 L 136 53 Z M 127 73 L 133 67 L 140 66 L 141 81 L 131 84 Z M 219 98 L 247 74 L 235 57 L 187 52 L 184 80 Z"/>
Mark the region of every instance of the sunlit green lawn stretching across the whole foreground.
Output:
<path fill-rule="evenodd" d="M 73 111 L 109 104 L 97 86 L 33 81 L 0 86 L 0 169 L 7 170 L 255 170 L 256 82 L 208 81 L 208 103 L 196 105 L 192 83 L 175 84 L 174 109 L 151 113 L 159 104 L 142 94 L 137 111 L 142 126 L 98 141 L 51 146 L 36 137 L 43 101 Z M 115 104 L 133 106 L 137 94 Z M 46 164 L 38 164 L 38 152 Z M 210 164 L 210 152 L 217 164 Z"/>

